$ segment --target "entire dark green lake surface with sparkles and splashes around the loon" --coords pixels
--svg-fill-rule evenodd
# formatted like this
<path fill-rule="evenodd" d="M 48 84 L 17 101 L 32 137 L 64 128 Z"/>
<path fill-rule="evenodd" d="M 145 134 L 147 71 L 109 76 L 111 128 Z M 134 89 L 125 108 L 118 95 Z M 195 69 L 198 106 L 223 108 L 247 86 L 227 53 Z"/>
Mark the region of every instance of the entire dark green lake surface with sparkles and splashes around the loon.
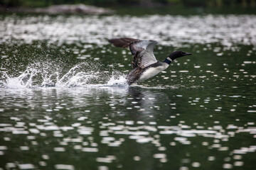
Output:
<path fill-rule="evenodd" d="M 256 16 L 0 16 L 0 169 L 255 169 Z M 128 86 L 108 38 L 193 53 Z"/>

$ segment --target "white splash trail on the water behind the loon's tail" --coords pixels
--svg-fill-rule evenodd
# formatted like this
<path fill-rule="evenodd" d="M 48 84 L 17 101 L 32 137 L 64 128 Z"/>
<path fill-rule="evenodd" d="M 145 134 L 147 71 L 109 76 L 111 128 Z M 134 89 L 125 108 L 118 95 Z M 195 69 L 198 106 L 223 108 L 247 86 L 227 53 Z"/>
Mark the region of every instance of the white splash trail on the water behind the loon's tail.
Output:
<path fill-rule="evenodd" d="M 87 63 L 80 63 L 68 72 L 62 73 L 59 68 L 45 63 L 30 64 L 18 77 L 11 77 L 6 72 L 0 74 L 0 87 L 7 89 L 37 87 L 93 87 L 127 85 L 124 75 L 115 71 L 108 75 L 100 70 L 88 68 Z M 92 69 L 92 70 L 90 70 Z"/>

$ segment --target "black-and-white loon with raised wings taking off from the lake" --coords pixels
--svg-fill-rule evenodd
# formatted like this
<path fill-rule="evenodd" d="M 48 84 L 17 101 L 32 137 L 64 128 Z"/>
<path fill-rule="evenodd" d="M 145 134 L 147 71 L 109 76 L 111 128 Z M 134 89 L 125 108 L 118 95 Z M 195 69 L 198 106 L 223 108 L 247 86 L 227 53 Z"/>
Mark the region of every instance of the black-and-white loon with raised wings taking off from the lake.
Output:
<path fill-rule="evenodd" d="M 129 47 L 132 52 L 132 70 L 127 74 L 127 83 L 139 83 L 154 77 L 164 69 L 169 67 L 169 64 L 176 58 L 186 55 L 192 55 L 188 52 L 175 51 L 166 57 L 164 62 L 159 62 L 154 56 L 154 47 L 158 43 L 155 40 L 138 40 L 134 38 L 114 38 L 108 40 L 115 47 Z"/>

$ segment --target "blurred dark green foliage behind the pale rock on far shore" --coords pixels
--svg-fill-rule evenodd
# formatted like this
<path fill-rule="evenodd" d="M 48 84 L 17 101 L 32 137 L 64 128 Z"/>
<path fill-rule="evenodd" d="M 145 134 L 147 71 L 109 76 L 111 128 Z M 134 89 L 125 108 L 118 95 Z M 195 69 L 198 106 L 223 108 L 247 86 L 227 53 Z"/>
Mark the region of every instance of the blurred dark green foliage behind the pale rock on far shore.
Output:
<path fill-rule="evenodd" d="M 88 4 L 96 6 L 122 6 L 122 5 L 141 5 L 141 6 L 209 6 L 209 7 L 251 7 L 255 8 L 256 0 L 0 0 L 0 6 L 50 6 L 55 4 Z"/>

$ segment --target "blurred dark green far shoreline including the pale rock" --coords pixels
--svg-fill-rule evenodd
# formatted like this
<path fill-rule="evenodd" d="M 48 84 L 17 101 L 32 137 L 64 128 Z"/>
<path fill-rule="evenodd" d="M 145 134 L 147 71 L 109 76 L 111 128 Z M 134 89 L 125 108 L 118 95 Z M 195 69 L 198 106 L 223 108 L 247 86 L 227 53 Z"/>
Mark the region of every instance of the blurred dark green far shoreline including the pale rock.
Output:
<path fill-rule="evenodd" d="M 255 8 L 256 0 L 0 0 L 1 13 L 255 14 Z"/>

